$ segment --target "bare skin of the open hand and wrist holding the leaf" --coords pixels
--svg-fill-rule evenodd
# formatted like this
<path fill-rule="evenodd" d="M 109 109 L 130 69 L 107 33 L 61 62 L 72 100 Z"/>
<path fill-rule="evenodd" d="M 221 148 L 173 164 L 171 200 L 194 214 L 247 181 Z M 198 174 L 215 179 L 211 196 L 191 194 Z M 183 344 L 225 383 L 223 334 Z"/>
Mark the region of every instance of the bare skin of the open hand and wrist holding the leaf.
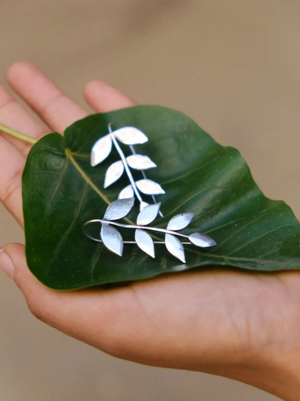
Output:
<path fill-rule="evenodd" d="M 34 138 L 87 115 L 39 69 L 10 67 L 7 80 L 49 128 L 0 85 L 0 123 Z M 98 112 L 134 105 L 103 81 L 83 92 Z M 0 200 L 23 227 L 21 174 L 30 144 L 0 135 Z M 38 319 L 108 354 L 147 365 L 243 381 L 300 400 L 300 273 L 221 269 L 178 273 L 111 290 L 56 292 L 26 266 L 24 245 L 2 246 L 0 266 Z"/>

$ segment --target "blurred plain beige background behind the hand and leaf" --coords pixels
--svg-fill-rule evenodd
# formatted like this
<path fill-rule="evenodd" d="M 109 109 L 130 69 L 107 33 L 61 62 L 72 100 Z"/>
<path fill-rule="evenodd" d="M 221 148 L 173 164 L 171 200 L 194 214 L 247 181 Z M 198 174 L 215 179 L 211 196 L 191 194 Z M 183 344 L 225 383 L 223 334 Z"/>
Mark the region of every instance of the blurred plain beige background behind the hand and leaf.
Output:
<path fill-rule="evenodd" d="M 180 109 L 241 151 L 266 195 L 300 217 L 299 0 L 1 0 L 0 78 L 42 67 L 83 103 L 90 79 Z M 0 209 L 0 243 L 23 241 Z M 117 360 L 30 316 L 0 274 L 2 401 L 272 401 L 209 375 Z"/>

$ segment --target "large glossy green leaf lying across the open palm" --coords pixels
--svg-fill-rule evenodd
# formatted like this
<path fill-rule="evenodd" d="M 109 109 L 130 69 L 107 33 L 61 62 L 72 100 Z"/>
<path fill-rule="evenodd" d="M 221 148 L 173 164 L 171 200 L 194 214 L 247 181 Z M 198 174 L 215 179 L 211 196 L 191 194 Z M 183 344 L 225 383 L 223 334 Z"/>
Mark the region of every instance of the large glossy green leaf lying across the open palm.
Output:
<path fill-rule="evenodd" d="M 137 127 L 149 138 L 136 150 L 157 164 L 147 176 L 166 191 L 158 196 L 164 217 L 155 225 L 166 228 L 174 215 L 195 212 L 185 233 L 207 233 L 217 246 L 186 245 L 186 264 L 180 265 L 164 245 L 156 245 L 155 259 L 136 245 L 124 245 L 119 257 L 84 237 L 83 224 L 103 218 L 107 205 L 128 184 L 124 174 L 103 190 L 105 171 L 118 160 L 115 151 L 98 166 L 90 165 L 91 147 L 107 134 L 109 122 L 118 128 Z M 236 149 L 217 144 L 175 110 L 131 107 L 90 115 L 67 128 L 64 136 L 49 134 L 30 150 L 22 184 L 27 263 L 51 288 L 137 280 L 205 265 L 256 271 L 300 267 L 300 225 L 290 207 L 262 194 Z M 128 215 L 132 222 L 136 209 Z M 93 235 L 99 237 L 100 228 Z M 127 229 L 122 235 L 133 240 L 133 233 Z"/>

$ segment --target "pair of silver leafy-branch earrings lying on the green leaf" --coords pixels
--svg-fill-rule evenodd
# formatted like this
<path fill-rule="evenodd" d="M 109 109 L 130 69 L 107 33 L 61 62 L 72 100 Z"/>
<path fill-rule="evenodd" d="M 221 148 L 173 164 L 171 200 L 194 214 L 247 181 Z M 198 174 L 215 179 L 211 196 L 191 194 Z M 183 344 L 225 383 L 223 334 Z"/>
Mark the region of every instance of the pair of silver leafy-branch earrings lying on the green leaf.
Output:
<path fill-rule="evenodd" d="M 163 188 L 153 180 L 149 180 L 145 170 L 155 168 L 156 164 L 148 157 L 136 153 L 134 145 L 144 144 L 148 141 L 147 136 L 138 128 L 123 127 L 112 130 L 111 124 L 108 125 L 108 134 L 97 140 L 91 150 L 91 166 L 95 167 L 105 160 L 114 146 L 120 156 L 120 160 L 112 163 L 106 171 L 104 179 L 104 188 L 114 184 L 126 172 L 130 182 L 123 188 L 118 199 L 112 202 L 106 209 L 103 219 L 93 219 L 87 221 L 83 226 L 83 233 L 93 241 L 101 242 L 109 251 L 122 256 L 124 244 L 136 244 L 142 251 L 155 257 L 154 244 L 165 244 L 166 249 L 182 263 L 186 263 L 183 245 L 196 245 L 197 247 L 211 247 L 216 242 L 206 234 L 193 233 L 184 235 L 179 231 L 186 228 L 191 223 L 195 213 L 180 213 L 172 217 L 166 229 L 150 227 L 149 224 L 156 219 L 160 211 L 161 203 L 156 202 L 156 195 L 164 194 Z M 131 151 L 130 156 L 125 156 L 120 143 L 128 145 Z M 140 170 L 142 178 L 135 181 L 132 170 Z M 143 194 L 152 197 L 153 204 L 143 200 Z M 116 220 L 123 219 L 128 215 L 134 206 L 135 199 L 139 202 L 140 213 L 138 214 L 136 225 L 117 223 Z M 85 231 L 87 225 L 91 223 L 101 223 L 100 238 L 97 239 L 88 235 Z M 120 232 L 115 227 L 123 227 L 135 230 L 135 241 L 123 241 Z M 152 233 L 164 234 L 164 241 L 154 241 L 148 231 Z M 188 241 L 180 241 L 184 238 Z"/>

